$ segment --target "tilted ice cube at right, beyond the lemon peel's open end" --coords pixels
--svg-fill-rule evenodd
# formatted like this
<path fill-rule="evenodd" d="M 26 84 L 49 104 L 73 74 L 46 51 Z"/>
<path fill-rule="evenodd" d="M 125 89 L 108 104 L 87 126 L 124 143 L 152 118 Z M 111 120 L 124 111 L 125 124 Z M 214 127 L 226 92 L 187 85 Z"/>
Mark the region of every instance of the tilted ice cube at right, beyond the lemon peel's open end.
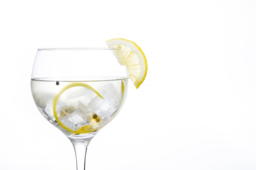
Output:
<path fill-rule="evenodd" d="M 101 91 L 100 94 L 102 95 L 103 99 L 99 96 L 95 97 L 89 104 L 89 107 L 104 121 L 108 121 L 117 111 L 119 105 L 115 103 L 115 101 L 106 93 L 106 91 Z"/>

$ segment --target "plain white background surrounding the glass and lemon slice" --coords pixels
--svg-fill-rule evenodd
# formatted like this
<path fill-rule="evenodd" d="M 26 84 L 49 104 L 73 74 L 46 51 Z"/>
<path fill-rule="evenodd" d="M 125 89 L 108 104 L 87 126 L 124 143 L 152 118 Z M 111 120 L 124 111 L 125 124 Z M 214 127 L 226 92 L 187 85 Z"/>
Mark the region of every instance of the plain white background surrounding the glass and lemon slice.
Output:
<path fill-rule="evenodd" d="M 75 170 L 30 92 L 38 48 L 135 41 L 148 59 L 87 170 L 256 169 L 255 0 L 0 0 L 0 170 Z"/>

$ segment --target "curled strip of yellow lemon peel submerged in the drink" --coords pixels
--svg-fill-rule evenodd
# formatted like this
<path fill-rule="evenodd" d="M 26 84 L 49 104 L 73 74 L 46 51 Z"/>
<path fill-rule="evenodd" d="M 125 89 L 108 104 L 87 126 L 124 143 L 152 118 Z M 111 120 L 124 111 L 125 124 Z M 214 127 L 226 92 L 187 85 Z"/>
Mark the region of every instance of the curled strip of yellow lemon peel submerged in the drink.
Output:
<path fill-rule="evenodd" d="M 56 111 L 56 108 L 57 108 L 57 105 L 58 105 L 58 99 L 61 97 L 61 95 L 67 91 L 68 89 L 70 88 L 73 88 L 73 87 L 83 87 L 83 88 L 87 88 L 89 89 L 90 91 L 92 91 L 92 93 L 95 93 L 96 95 L 98 95 L 99 97 L 101 97 L 103 99 L 103 97 L 100 95 L 99 92 L 97 92 L 94 88 L 92 88 L 91 86 L 89 86 L 88 84 L 85 84 L 85 83 L 72 83 L 72 84 L 68 84 L 67 86 L 65 86 L 54 98 L 54 101 L 53 101 L 53 114 L 54 114 L 54 117 L 56 119 L 56 121 L 58 122 L 58 124 L 60 124 L 60 126 L 62 126 L 65 130 L 68 130 L 70 132 L 74 132 L 76 134 L 79 134 L 79 133 L 88 133 L 88 132 L 94 132 L 96 130 L 98 130 L 99 128 L 101 128 L 101 126 L 97 126 L 97 128 L 94 128 L 92 126 L 92 124 L 95 124 L 98 123 L 100 121 L 100 118 L 97 116 L 97 114 L 93 114 L 91 116 L 91 121 L 90 121 L 90 124 L 86 125 L 86 126 L 82 126 L 80 128 L 78 128 L 77 130 L 72 130 L 70 127 L 68 127 L 64 122 L 61 121 L 60 117 L 65 117 L 65 113 L 61 113 L 59 114 L 59 117 L 57 115 L 57 111 Z M 72 111 L 75 111 L 77 108 L 74 108 L 74 106 L 65 106 L 65 107 L 62 107 L 64 110 L 66 110 L 67 112 L 72 112 Z M 79 108 L 80 109 L 80 108 Z"/>

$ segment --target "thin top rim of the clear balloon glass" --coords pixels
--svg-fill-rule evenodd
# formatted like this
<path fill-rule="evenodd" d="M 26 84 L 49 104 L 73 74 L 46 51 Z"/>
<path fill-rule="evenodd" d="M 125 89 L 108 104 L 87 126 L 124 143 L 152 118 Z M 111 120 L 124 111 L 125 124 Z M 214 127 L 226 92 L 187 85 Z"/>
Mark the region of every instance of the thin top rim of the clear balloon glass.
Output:
<path fill-rule="evenodd" d="M 88 48 L 40 48 L 38 51 L 86 51 L 86 50 L 120 50 L 120 48 L 88 47 Z"/>

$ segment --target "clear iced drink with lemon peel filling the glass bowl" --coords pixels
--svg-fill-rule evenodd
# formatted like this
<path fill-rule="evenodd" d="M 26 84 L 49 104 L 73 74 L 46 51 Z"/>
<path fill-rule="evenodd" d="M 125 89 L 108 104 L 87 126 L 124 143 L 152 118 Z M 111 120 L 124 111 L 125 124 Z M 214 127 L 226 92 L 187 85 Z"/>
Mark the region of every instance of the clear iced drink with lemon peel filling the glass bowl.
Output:
<path fill-rule="evenodd" d="M 126 98 L 127 78 L 100 81 L 31 79 L 40 113 L 65 135 L 93 134 L 117 115 Z"/>

